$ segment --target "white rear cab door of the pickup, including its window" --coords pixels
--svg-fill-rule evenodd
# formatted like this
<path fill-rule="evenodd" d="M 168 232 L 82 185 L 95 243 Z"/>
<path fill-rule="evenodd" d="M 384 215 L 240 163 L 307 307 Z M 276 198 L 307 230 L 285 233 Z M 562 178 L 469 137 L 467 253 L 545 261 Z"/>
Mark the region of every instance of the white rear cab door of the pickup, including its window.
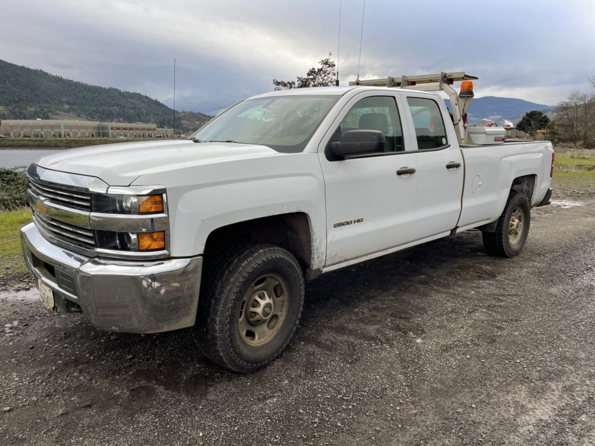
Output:
<path fill-rule="evenodd" d="M 444 121 L 449 114 L 443 100 L 434 95 L 402 94 L 417 145 L 416 238 L 431 237 L 456 227 L 461 213 L 463 158 L 452 124 Z"/>

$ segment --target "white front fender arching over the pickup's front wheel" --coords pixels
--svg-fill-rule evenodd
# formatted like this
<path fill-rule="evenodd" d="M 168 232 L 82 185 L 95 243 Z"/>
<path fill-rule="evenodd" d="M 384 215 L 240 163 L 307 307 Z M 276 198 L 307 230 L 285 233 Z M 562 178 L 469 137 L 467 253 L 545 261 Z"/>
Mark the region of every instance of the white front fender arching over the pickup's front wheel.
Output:
<path fill-rule="evenodd" d="M 172 256 L 203 254 L 209 234 L 218 228 L 303 212 L 311 225 L 311 268 L 324 266 L 326 212 L 317 154 L 216 163 L 177 172 L 177 176 L 172 172 L 159 175 L 167 188 Z M 179 186 L 171 186 L 176 183 Z"/>

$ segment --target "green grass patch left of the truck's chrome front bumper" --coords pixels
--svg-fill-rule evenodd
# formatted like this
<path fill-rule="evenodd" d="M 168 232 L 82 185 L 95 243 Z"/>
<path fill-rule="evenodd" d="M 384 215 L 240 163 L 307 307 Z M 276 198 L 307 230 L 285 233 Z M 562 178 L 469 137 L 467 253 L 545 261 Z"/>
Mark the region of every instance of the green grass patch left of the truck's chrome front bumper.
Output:
<path fill-rule="evenodd" d="M 25 271 L 20 229 L 30 220 L 29 209 L 0 212 L 0 275 Z"/>

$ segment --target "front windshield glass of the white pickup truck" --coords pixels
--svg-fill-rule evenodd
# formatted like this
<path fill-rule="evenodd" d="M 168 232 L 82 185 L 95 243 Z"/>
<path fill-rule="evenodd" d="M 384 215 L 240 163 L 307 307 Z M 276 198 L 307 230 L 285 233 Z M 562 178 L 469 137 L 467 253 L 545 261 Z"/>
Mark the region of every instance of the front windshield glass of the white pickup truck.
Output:
<path fill-rule="evenodd" d="M 302 152 L 340 96 L 246 99 L 197 130 L 190 139 L 259 144 L 277 152 Z"/>

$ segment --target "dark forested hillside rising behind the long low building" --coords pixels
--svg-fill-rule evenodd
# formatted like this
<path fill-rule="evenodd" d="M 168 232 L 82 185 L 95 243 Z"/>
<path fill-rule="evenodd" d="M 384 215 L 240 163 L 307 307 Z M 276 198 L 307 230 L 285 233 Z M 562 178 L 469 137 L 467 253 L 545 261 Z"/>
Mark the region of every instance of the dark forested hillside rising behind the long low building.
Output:
<path fill-rule="evenodd" d="M 82 119 L 173 126 L 174 111 L 140 93 L 68 80 L 0 60 L 0 119 Z M 211 117 L 176 112 L 176 128 L 189 131 Z"/>

